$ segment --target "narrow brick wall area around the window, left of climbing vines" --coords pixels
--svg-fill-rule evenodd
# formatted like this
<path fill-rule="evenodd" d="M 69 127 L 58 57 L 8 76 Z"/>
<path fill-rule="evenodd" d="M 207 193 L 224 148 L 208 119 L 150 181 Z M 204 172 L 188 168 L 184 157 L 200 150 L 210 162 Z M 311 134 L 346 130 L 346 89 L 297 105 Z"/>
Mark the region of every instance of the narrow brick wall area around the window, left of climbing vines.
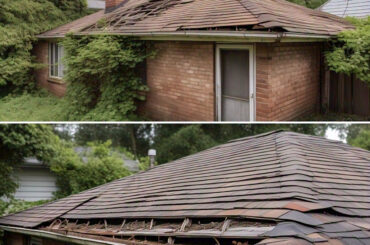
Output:
<path fill-rule="evenodd" d="M 60 84 L 49 80 L 49 44 L 46 41 L 39 41 L 34 45 L 33 54 L 36 56 L 36 61 L 45 64 L 45 67 L 35 71 L 35 79 L 37 85 L 50 91 L 52 94 L 62 97 L 66 93 L 66 84 Z"/>

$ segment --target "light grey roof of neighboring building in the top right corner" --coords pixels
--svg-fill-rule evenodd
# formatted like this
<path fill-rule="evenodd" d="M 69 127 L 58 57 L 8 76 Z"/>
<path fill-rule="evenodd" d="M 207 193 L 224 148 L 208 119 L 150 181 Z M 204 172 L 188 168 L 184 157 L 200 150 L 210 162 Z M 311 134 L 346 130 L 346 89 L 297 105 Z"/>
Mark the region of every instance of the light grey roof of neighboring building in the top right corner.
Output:
<path fill-rule="evenodd" d="M 318 8 L 339 17 L 365 18 L 370 15 L 369 0 L 329 0 Z"/>

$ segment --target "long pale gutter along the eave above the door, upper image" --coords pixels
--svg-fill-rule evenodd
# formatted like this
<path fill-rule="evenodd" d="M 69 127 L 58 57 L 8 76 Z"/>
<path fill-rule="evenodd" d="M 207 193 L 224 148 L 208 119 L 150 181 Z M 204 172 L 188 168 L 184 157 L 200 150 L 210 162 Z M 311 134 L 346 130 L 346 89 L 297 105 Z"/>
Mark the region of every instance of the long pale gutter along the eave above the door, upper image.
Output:
<path fill-rule="evenodd" d="M 304 41 L 324 41 L 330 39 L 330 35 L 317 35 L 317 34 L 301 34 L 301 33 L 291 33 L 291 32 L 206 32 L 206 31 L 174 31 L 174 32 L 80 32 L 75 33 L 75 35 L 122 35 L 122 36 L 133 36 L 140 37 L 143 40 L 251 40 L 251 41 L 264 41 L 264 42 L 275 42 L 276 40 L 282 41 L 299 41 L 303 39 Z M 62 38 L 64 35 L 54 35 L 54 36 L 37 36 L 40 39 L 50 39 L 50 38 Z M 284 40 L 287 39 L 287 40 Z"/>

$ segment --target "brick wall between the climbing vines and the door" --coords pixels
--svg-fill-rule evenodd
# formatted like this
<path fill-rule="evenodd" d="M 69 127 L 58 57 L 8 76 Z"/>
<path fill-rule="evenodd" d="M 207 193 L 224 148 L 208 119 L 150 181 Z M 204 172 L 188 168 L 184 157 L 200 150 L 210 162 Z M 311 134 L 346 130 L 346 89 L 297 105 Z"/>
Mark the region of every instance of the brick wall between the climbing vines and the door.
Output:
<path fill-rule="evenodd" d="M 147 61 L 150 92 L 140 111 L 161 121 L 213 121 L 214 44 L 156 42 Z"/>

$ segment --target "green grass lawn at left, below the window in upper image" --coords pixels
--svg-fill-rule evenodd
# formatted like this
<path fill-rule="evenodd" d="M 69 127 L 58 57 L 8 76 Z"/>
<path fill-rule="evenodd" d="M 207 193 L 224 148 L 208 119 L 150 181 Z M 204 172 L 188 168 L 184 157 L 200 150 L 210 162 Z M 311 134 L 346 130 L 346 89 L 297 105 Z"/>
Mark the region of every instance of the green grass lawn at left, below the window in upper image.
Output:
<path fill-rule="evenodd" d="M 0 98 L 0 121 L 64 121 L 62 99 L 38 92 Z"/>

